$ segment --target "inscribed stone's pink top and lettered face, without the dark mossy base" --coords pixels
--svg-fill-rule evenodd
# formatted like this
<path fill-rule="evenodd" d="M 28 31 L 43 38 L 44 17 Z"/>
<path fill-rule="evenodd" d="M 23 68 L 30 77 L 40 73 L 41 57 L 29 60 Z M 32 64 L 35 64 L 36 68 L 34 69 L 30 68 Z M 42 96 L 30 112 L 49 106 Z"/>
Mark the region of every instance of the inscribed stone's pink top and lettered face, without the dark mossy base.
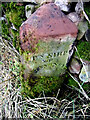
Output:
<path fill-rule="evenodd" d="M 43 5 L 20 27 L 21 48 L 30 51 L 29 69 L 36 76 L 65 71 L 77 27 L 53 3 Z"/>

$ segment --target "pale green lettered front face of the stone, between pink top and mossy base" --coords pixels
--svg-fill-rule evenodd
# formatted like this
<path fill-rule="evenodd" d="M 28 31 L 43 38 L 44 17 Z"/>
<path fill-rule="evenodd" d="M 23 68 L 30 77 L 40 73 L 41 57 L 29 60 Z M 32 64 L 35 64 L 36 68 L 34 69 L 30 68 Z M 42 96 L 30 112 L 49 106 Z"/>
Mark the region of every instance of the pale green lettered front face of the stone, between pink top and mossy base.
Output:
<path fill-rule="evenodd" d="M 34 76 L 59 76 L 65 73 L 71 41 L 40 42 L 34 53 L 23 53 L 26 69 Z"/>

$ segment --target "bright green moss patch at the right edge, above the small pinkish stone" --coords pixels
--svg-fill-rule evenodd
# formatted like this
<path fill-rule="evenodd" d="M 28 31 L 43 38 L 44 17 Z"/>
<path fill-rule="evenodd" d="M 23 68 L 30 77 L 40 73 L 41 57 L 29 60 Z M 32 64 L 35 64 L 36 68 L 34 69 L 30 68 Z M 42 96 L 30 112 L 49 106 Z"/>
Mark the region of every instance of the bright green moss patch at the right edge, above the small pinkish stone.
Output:
<path fill-rule="evenodd" d="M 90 42 L 79 41 L 77 50 L 81 59 L 90 61 Z M 78 56 L 78 53 L 75 52 L 75 55 Z"/>

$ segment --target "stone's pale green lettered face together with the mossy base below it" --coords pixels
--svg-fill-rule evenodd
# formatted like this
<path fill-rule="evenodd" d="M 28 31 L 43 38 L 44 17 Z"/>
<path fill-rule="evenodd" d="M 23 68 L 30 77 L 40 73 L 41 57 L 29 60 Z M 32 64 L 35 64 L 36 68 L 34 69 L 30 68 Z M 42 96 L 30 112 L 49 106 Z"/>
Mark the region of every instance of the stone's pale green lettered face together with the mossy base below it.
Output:
<path fill-rule="evenodd" d="M 22 93 L 30 96 L 56 95 L 64 82 L 66 63 L 71 41 L 39 42 L 36 51 L 24 51 Z"/>

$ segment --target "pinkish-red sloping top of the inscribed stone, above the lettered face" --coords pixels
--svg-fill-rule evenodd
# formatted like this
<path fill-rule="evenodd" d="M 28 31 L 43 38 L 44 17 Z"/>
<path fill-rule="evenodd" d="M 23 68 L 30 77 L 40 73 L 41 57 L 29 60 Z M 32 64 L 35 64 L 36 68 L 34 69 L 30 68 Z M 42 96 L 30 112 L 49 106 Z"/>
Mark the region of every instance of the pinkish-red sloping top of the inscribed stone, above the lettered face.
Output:
<path fill-rule="evenodd" d="M 38 8 L 21 25 L 20 39 L 23 43 L 23 39 L 28 35 L 35 39 L 42 39 L 42 41 L 66 35 L 76 37 L 77 32 L 76 25 L 61 12 L 60 7 L 54 3 L 48 3 Z"/>

